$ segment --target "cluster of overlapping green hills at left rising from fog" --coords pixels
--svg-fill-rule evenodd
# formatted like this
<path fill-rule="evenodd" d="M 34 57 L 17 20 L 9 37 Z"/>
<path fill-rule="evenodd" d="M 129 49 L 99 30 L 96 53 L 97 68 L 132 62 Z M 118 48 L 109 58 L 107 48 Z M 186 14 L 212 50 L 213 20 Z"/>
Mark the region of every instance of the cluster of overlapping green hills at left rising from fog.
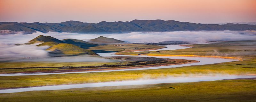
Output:
<path fill-rule="evenodd" d="M 39 35 L 36 38 L 28 41 L 25 44 L 35 44 L 41 43 L 36 46 L 50 46 L 50 48 L 46 49 L 51 51 L 52 54 L 67 54 L 67 55 L 74 55 L 74 54 L 82 54 L 82 55 L 97 55 L 91 50 L 87 50 L 86 48 L 97 46 L 95 44 L 77 40 L 77 39 L 64 39 L 58 40 L 51 36 L 44 36 Z M 22 44 L 16 44 L 22 45 Z"/>

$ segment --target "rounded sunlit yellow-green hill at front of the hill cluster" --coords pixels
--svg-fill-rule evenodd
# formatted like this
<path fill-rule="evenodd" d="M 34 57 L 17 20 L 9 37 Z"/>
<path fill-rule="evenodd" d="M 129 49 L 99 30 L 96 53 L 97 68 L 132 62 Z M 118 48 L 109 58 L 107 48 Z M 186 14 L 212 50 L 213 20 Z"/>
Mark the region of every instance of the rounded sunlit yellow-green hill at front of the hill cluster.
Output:
<path fill-rule="evenodd" d="M 75 54 L 83 54 L 83 55 L 96 55 L 91 50 L 87 50 L 81 47 L 77 47 L 73 44 L 65 44 L 60 43 L 57 45 L 54 45 L 46 50 L 51 51 L 53 54 L 67 54 L 67 55 L 75 55 Z"/>

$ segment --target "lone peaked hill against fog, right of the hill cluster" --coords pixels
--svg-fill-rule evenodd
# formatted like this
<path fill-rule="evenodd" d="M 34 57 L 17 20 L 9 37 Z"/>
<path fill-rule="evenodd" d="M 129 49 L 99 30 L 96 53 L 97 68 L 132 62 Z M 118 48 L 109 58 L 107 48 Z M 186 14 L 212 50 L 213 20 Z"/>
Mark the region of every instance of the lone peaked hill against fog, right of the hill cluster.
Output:
<path fill-rule="evenodd" d="M 107 37 L 104 37 L 104 36 L 100 36 L 98 38 L 91 39 L 91 40 L 88 40 L 88 41 L 90 41 L 91 43 L 94 43 L 94 44 L 125 43 L 124 41 L 117 40 L 117 39 L 114 39 L 114 38 L 107 38 Z"/>

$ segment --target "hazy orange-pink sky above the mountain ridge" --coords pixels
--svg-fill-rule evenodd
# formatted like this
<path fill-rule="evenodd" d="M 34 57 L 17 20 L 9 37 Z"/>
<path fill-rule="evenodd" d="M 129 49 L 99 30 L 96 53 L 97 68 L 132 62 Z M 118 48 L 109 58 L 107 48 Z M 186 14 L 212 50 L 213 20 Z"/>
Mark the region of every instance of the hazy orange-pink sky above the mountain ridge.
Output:
<path fill-rule="evenodd" d="M 256 0 L 0 0 L 0 22 L 255 22 Z"/>

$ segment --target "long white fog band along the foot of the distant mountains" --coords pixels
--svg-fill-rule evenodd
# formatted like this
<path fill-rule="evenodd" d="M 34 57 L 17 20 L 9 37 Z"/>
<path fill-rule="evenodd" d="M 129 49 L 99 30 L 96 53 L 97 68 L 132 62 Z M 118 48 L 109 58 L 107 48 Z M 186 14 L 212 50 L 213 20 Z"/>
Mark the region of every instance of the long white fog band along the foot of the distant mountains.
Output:
<path fill-rule="evenodd" d="M 79 33 L 41 33 L 32 34 L 13 34 L 0 35 L 1 43 L 16 44 L 26 43 L 29 40 L 39 36 L 52 36 L 57 39 L 94 39 L 99 36 L 105 36 L 123 40 L 126 42 L 162 42 L 162 41 L 190 41 L 190 42 L 207 42 L 207 41 L 234 41 L 234 40 L 256 40 L 255 32 L 237 32 L 237 31 L 176 31 L 176 32 L 132 32 L 132 33 L 113 33 L 113 34 L 79 34 Z"/>

